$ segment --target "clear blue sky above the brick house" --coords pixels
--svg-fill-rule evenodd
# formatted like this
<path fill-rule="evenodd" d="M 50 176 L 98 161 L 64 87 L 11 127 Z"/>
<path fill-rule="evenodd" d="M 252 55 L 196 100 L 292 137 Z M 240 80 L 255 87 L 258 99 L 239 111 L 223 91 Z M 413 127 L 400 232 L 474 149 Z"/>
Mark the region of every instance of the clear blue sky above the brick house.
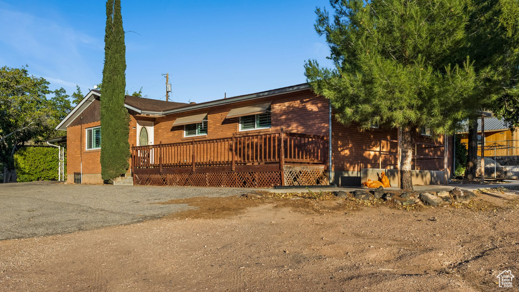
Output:
<path fill-rule="evenodd" d="M 326 60 L 313 29 L 327 0 L 121 1 L 126 87 L 148 98 L 203 102 L 306 82 L 303 65 Z M 102 80 L 104 1 L 0 0 L 0 66 L 86 94 Z"/>

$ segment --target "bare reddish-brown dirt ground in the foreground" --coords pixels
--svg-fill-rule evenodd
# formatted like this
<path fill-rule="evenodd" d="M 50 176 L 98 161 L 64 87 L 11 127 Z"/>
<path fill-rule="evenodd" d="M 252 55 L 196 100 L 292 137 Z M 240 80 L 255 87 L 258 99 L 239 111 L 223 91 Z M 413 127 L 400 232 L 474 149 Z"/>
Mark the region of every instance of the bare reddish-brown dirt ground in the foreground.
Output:
<path fill-rule="evenodd" d="M 0 242 L 2 291 L 503 291 L 519 279 L 519 191 L 398 206 L 256 192 L 159 204 L 158 220 Z M 303 196 L 303 197 L 302 197 Z"/>

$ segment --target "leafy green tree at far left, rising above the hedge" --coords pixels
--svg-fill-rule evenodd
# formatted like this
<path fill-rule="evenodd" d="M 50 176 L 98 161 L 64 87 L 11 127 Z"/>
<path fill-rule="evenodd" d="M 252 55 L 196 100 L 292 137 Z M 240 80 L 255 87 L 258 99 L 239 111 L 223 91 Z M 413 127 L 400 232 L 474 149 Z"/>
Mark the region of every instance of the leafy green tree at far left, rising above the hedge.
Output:
<path fill-rule="evenodd" d="M 4 182 L 14 169 L 13 155 L 26 143 L 55 135 L 54 127 L 70 112 L 63 88 L 51 91 L 44 78 L 30 76 L 26 68 L 0 69 L 0 160 Z"/>

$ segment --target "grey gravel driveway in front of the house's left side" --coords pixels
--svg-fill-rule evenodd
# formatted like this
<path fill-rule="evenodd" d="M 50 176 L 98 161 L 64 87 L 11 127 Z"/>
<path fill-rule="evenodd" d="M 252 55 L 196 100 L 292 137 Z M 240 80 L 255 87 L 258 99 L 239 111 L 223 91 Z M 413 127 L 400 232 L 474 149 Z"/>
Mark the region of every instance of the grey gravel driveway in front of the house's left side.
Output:
<path fill-rule="evenodd" d="M 232 196 L 243 192 L 229 188 L 52 182 L 0 184 L 0 240 L 130 224 L 189 208 L 185 204 L 153 203 L 197 196 Z"/>

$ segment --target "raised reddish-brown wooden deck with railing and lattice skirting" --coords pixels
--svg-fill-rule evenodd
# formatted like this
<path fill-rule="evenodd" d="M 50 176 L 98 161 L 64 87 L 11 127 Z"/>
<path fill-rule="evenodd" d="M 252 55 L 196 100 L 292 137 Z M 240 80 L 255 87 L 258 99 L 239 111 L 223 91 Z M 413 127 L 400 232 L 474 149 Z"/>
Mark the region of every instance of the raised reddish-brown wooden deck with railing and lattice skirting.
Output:
<path fill-rule="evenodd" d="M 275 132 L 132 147 L 134 184 L 198 187 L 323 185 L 328 139 Z"/>

